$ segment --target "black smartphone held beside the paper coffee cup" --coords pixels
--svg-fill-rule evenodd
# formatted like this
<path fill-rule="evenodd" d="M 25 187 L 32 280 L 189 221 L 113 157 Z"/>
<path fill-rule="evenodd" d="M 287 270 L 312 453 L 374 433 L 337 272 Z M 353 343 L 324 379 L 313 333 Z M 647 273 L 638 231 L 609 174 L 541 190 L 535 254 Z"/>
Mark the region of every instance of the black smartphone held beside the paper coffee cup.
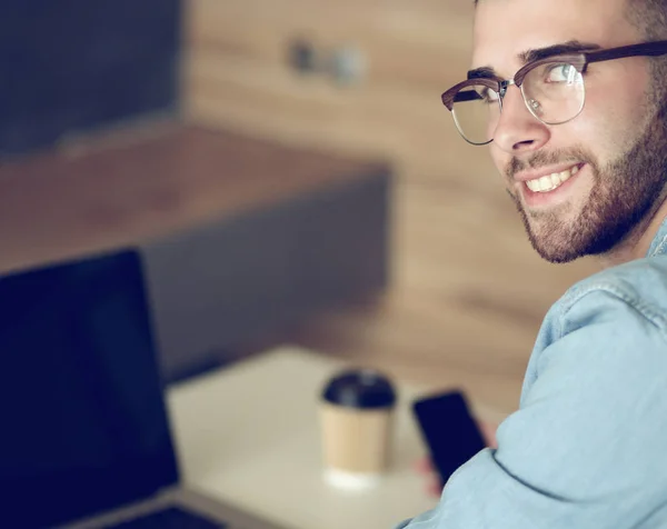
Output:
<path fill-rule="evenodd" d="M 461 391 L 416 400 L 412 411 L 442 486 L 461 465 L 487 446 Z"/>

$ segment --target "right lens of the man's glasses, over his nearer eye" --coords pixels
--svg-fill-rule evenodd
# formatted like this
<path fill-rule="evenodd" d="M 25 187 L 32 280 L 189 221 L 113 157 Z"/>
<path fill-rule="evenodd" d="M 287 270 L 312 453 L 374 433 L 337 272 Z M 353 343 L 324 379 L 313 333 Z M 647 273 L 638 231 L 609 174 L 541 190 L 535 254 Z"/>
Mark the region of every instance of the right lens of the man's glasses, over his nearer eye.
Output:
<path fill-rule="evenodd" d="M 564 62 L 549 62 L 530 70 L 521 90 L 530 112 L 547 124 L 576 118 L 586 97 L 581 73 Z"/>

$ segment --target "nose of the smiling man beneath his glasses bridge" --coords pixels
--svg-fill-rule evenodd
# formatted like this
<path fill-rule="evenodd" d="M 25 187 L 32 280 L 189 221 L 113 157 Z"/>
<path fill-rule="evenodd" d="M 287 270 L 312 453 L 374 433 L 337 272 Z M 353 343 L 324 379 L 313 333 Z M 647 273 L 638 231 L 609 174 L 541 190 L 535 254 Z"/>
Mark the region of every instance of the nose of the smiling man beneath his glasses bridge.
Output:
<path fill-rule="evenodd" d="M 549 138 L 549 128 L 530 113 L 521 90 L 516 86 L 508 87 L 502 98 L 494 143 L 505 152 L 517 156 L 540 149 Z"/>

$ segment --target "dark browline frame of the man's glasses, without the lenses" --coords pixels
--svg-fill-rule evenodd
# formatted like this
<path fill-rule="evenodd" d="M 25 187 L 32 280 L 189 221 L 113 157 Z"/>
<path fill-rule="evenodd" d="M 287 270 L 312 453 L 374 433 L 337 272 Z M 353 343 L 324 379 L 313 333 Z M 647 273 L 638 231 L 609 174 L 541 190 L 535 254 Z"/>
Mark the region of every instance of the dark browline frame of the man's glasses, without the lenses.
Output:
<path fill-rule="evenodd" d="M 551 57 L 547 57 L 544 59 L 538 59 L 536 61 L 528 62 L 527 64 L 522 66 L 519 70 L 517 70 L 517 72 L 514 76 L 514 79 L 484 78 L 484 77 L 467 79 L 465 81 L 459 82 L 458 84 L 455 84 L 449 90 L 442 92 L 440 98 L 442 100 L 442 104 L 445 104 L 445 107 L 447 107 L 447 109 L 450 112 L 452 112 L 456 128 L 459 131 L 459 134 L 464 138 L 464 140 L 466 140 L 468 143 L 471 143 L 474 146 L 486 146 L 486 144 L 490 143 L 491 141 L 494 141 L 494 139 L 491 138 L 490 140 L 485 141 L 484 143 L 476 143 L 474 141 L 470 141 L 468 138 L 466 138 L 466 136 L 464 134 L 464 132 L 461 131 L 461 129 L 458 124 L 456 114 L 454 113 L 454 99 L 460 90 L 462 90 L 467 87 L 475 86 L 475 84 L 481 84 L 481 86 L 489 88 L 490 90 L 494 90 L 496 93 L 498 93 L 499 110 L 500 110 L 500 112 L 502 112 L 502 98 L 505 98 L 505 94 L 507 93 L 507 88 L 510 84 L 515 84 L 521 91 L 521 98 L 524 99 L 524 104 L 526 104 L 526 108 L 535 117 L 535 119 L 537 119 L 538 121 L 540 121 L 545 124 L 549 124 L 549 126 L 563 124 L 563 123 L 567 123 L 568 121 L 571 121 L 573 119 L 575 119 L 577 116 L 579 116 L 581 113 L 581 110 L 584 110 L 584 103 L 586 101 L 586 87 L 584 87 L 584 100 L 581 101 L 581 108 L 579 109 L 579 111 L 575 116 L 573 116 L 571 118 L 569 118 L 565 121 L 549 123 L 549 122 L 544 121 L 542 119 L 539 118 L 539 116 L 536 114 L 535 109 L 531 108 L 531 106 L 528 103 L 528 100 L 526 99 L 526 93 L 524 92 L 522 84 L 524 84 L 524 79 L 526 79 L 526 76 L 531 70 L 534 70 L 535 68 L 538 68 L 542 64 L 548 64 L 551 62 L 563 62 L 563 63 L 571 64 L 573 67 L 575 67 L 575 69 L 579 73 L 585 73 L 586 69 L 588 68 L 588 64 L 594 63 L 594 62 L 604 62 L 604 61 L 610 61 L 610 60 L 615 60 L 615 59 L 625 59 L 628 57 L 660 57 L 664 54 L 667 54 L 667 40 L 658 40 L 658 41 L 654 41 L 654 42 L 640 42 L 638 44 L 620 46 L 617 48 L 608 48 L 605 50 L 581 51 L 581 52 L 576 52 L 576 53 L 559 53 L 557 56 L 551 56 Z"/>

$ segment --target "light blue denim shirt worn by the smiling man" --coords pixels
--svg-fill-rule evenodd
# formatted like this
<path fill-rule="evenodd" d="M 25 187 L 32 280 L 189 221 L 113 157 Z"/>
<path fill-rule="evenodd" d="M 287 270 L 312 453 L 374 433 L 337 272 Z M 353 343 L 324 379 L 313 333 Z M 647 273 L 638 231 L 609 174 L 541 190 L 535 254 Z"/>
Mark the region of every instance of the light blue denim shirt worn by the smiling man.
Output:
<path fill-rule="evenodd" d="M 667 221 L 551 307 L 497 438 L 398 527 L 667 528 Z"/>

